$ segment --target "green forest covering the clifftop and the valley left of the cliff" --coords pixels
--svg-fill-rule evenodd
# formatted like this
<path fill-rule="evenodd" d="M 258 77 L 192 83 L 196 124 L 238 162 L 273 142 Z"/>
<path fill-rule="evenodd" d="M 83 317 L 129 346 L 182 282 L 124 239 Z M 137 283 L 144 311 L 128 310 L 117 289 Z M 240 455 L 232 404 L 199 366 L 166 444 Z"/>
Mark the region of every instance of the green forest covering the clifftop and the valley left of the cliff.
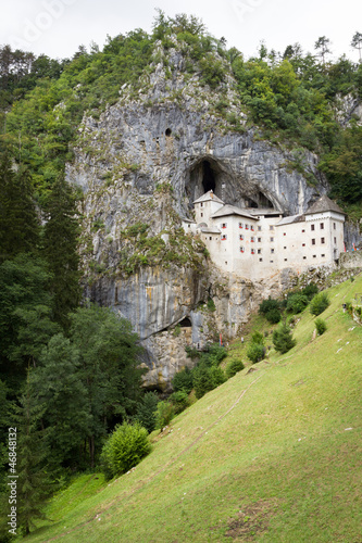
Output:
<path fill-rule="evenodd" d="M 285 146 L 303 172 L 302 151 L 319 156 L 329 195 L 353 219 L 362 216 L 362 126 L 338 115 L 362 98 L 362 34 L 358 60 L 330 61 L 329 40 L 313 53 L 299 43 L 282 53 L 261 43 L 245 59 L 211 36 L 201 21 L 159 12 L 151 34 L 136 29 L 84 46 L 72 59 L 0 48 L 0 500 L 7 500 L 8 429 L 18 429 L 20 518 L 25 531 L 39 504 L 75 471 L 93 469 L 116 424 L 137 418 L 145 392 L 141 348 L 130 324 L 83 299 L 78 243 L 82 193 L 65 180 L 77 127 L 99 118 L 120 87 L 135 98 L 140 76 L 155 66 L 155 46 L 176 42 L 185 77 L 220 94 L 235 79 L 248 126 Z M 172 77 L 172 74 L 170 74 Z M 313 180 L 311 180 L 313 182 Z M 0 504 L 2 508 L 3 503 Z"/>

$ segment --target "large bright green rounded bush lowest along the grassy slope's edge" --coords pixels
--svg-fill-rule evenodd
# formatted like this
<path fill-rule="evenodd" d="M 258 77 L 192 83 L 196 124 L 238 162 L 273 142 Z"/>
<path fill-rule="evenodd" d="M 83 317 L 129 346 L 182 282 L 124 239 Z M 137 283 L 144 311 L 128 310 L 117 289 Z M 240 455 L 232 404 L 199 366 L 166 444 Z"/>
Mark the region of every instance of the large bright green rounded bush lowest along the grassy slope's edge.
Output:
<path fill-rule="evenodd" d="M 148 432 L 139 422 L 117 425 L 103 445 L 102 470 L 108 479 L 125 473 L 151 452 Z"/>

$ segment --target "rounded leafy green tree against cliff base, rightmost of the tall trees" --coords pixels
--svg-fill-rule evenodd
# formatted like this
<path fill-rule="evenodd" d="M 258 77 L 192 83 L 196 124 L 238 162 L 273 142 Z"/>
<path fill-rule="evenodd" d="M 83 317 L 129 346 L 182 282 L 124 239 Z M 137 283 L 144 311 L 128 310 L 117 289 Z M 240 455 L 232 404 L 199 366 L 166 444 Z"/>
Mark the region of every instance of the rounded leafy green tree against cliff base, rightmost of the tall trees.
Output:
<path fill-rule="evenodd" d="M 82 379 L 89 402 L 88 437 L 90 465 L 96 442 L 114 421 L 135 415 L 140 397 L 138 336 L 130 323 L 108 307 L 88 305 L 71 315 L 70 339 L 78 349 Z"/>

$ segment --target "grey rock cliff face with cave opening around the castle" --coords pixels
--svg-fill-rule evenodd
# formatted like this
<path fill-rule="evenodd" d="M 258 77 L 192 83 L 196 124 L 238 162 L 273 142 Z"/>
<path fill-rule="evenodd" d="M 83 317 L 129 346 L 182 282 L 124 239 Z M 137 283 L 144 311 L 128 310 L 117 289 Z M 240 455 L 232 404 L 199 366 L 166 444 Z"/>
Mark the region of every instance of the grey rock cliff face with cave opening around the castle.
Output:
<path fill-rule="evenodd" d="M 229 204 L 297 214 L 326 190 L 316 156 L 272 146 L 247 127 L 232 78 L 217 94 L 182 75 L 182 63 L 171 51 L 171 76 L 161 62 L 137 97 L 125 87 L 99 118 L 85 118 L 67 168 L 84 191 L 86 294 L 132 321 L 147 349 L 146 384 L 163 390 L 188 363 L 185 343 L 235 337 L 280 288 L 280 277 L 251 285 L 212 269 L 202 243 L 179 228 L 194 200 L 213 189 Z M 221 96 L 232 125 L 217 113 Z"/>

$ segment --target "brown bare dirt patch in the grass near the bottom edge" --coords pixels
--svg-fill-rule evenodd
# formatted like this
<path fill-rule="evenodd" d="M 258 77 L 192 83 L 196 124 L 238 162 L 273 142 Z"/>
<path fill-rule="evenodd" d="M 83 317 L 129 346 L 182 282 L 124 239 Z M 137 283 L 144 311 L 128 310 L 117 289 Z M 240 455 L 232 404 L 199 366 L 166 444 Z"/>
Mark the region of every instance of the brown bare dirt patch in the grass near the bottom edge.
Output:
<path fill-rule="evenodd" d="M 240 506 L 237 518 L 229 519 L 226 538 L 255 541 L 258 535 L 267 531 L 270 519 L 277 508 L 276 500 L 260 500 L 252 505 Z"/>

